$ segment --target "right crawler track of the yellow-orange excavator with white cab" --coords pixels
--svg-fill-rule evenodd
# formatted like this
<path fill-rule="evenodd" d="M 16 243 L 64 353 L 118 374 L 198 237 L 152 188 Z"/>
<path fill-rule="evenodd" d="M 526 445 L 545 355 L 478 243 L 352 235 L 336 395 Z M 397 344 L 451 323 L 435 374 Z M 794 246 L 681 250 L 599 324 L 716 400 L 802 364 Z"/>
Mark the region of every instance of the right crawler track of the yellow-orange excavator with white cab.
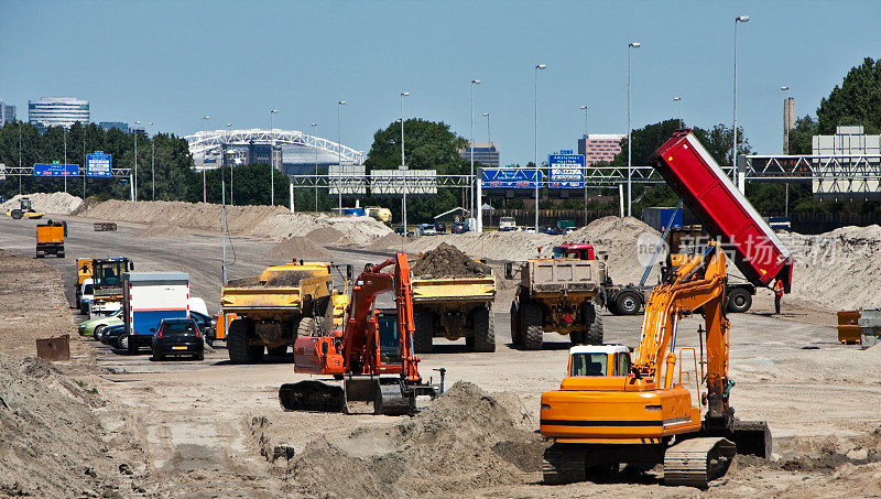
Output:
<path fill-rule="evenodd" d="M 689 438 L 664 454 L 664 484 L 706 489 L 731 465 L 737 446 L 727 438 Z"/>

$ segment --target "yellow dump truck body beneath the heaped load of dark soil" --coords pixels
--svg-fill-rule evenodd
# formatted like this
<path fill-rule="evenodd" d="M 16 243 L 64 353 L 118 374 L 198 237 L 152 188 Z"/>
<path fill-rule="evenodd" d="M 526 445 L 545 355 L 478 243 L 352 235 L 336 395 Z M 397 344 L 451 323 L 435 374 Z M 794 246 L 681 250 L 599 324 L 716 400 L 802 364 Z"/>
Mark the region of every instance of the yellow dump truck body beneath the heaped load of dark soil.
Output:
<path fill-rule="evenodd" d="M 413 275 L 413 347 L 432 351 L 433 338 L 459 339 L 474 351 L 496 351 L 492 302 L 496 276 L 421 279 Z"/>

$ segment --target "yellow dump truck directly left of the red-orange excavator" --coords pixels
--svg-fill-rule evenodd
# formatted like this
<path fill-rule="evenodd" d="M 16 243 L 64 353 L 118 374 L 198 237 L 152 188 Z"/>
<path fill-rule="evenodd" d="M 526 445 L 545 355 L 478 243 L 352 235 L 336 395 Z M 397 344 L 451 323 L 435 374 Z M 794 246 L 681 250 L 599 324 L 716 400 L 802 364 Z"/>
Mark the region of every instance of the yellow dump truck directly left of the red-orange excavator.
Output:
<path fill-rule="evenodd" d="M 292 262 L 229 281 L 220 292 L 224 315 L 236 314 L 224 328 L 229 360 L 259 362 L 264 349 L 271 356 L 281 356 L 297 336 L 330 330 L 337 317 L 341 324 L 347 299 L 345 289 L 334 289 L 333 268 L 339 265 Z M 351 265 L 346 269 L 349 280 Z"/>

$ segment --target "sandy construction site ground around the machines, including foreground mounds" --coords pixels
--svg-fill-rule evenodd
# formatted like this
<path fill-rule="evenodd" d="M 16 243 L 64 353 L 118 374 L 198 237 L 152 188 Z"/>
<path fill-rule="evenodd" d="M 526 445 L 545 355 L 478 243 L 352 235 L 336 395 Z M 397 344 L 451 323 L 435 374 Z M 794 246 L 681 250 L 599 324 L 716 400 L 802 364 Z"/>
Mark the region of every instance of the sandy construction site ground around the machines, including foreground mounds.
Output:
<path fill-rule="evenodd" d="M 153 362 L 148 355 L 120 355 L 78 337 L 75 322 L 81 317 L 64 308 L 62 294 L 73 297 L 74 258 L 124 256 L 135 262 L 137 271 L 188 272 L 193 295 L 217 312 L 219 235 L 193 230 L 145 239 L 137 237 L 143 225 L 120 223 L 117 232 L 95 232 L 91 219 L 59 218 L 69 225 L 68 258 L 46 260 L 32 258 L 35 221 L 0 218 L 0 433 L 6 437 L 17 427 L 15 417 L 31 421 L 22 415 L 25 410 L 51 410 L 55 420 L 47 421 L 59 426 L 53 434 L 22 423 L 11 433 L 21 442 L 15 441 L 20 445 L 14 451 L 0 449 L 0 456 L 15 455 L 0 458 L 0 495 L 881 495 L 881 347 L 840 345 L 830 310 L 784 299 L 784 314 L 774 316 L 770 293 L 761 290 L 753 311 L 730 316 L 731 377 L 737 382 L 731 403 L 742 419 L 768 421 L 774 435 L 773 462 L 738 457 L 726 478 L 707 492 L 664 487 L 656 473 L 551 487 L 541 484 L 539 399 L 558 387 L 568 341 L 546 334 L 541 351 L 512 348 L 512 285 L 500 285 L 497 299 L 496 352 L 468 352 L 464 340 L 436 339 L 435 352 L 422 356 L 420 371 L 435 382 L 434 369 L 447 369 L 452 394 L 435 402 L 438 409 L 415 417 L 283 412 L 279 386 L 307 378 L 293 373 L 290 352 L 287 358 L 235 366 L 221 343 L 204 361 Z M 229 278 L 279 263 L 264 259 L 278 242 L 235 237 Z M 388 254 L 357 247 L 326 250 L 338 263 L 354 264 L 356 272 Z M 501 279 L 502 263 L 490 263 Z M 607 343 L 635 346 L 641 316 L 607 314 L 603 323 Z M 694 317 L 681 323 L 679 347 L 698 347 L 699 323 Z M 72 335 L 72 360 L 50 366 L 29 358 L 35 351 L 34 338 L 57 334 Z M 474 386 L 450 388 L 458 381 Z M 29 383 L 45 390 L 20 398 L 10 392 L 9 387 Z M 53 403 L 33 403 L 40 397 Z M 84 417 L 89 422 L 80 423 Z M 43 433 L 29 436 L 29 431 Z M 69 441 L 52 444 L 46 435 Z M 46 469 L 47 459 L 57 469 Z M 42 469 L 42 475 L 33 469 Z"/>

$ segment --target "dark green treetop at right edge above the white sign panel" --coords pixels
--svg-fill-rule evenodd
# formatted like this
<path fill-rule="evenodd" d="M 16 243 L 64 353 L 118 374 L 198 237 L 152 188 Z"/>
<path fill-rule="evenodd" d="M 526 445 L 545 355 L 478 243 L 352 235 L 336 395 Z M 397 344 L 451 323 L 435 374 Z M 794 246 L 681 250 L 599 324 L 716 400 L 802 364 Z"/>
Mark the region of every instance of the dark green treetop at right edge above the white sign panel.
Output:
<path fill-rule="evenodd" d="M 835 133 L 840 124 L 862 124 L 866 133 L 881 131 L 881 59 L 866 57 L 836 85 L 817 109 L 818 130 Z"/>

